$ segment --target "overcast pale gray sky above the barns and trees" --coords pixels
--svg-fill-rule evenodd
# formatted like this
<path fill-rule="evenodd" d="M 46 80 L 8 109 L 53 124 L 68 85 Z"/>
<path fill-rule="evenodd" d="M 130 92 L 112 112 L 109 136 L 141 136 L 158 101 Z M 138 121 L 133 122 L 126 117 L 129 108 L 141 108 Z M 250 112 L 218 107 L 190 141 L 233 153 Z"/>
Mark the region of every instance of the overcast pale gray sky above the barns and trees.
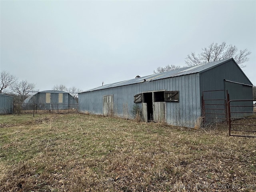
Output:
<path fill-rule="evenodd" d="M 247 48 L 256 85 L 256 1 L 0 1 L 0 70 L 81 90 L 185 66 L 212 42 Z"/>

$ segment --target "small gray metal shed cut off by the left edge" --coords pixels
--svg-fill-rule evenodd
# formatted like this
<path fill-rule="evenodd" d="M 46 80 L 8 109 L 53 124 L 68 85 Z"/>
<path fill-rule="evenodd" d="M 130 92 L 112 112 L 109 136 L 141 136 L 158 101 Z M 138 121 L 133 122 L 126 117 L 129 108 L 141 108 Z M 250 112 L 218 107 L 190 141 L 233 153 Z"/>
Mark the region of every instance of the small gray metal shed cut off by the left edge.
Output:
<path fill-rule="evenodd" d="M 0 114 L 13 113 L 13 96 L 0 93 Z"/>

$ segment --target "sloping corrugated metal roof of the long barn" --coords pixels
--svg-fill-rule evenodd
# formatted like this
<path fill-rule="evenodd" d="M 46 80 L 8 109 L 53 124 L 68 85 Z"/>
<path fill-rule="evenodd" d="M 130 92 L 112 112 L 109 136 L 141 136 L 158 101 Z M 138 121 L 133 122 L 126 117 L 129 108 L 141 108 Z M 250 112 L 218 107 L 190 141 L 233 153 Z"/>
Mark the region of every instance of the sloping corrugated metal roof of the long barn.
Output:
<path fill-rule="evenodd" d="M 116 83 L 106 84 L 104 86 L 96 87 L 96 88 L 93 88 L 90 90 L 86 90 L 84 92 L 107 89 L 107 88 L 118 87 L 118 86 L 124 86 L 124 85 L 129 85 L 129 84 L 142 83 L 145 81 L 154 81 L 154 80 L 158 80 L 158 79 L 182 76 L 182 75 L 193 74 L 193 73 L 199 73 L 199 72 L 203 72 L 205 70 L 209 70 L 210 68 L 213 68 L 215 66 L 218 66 L 219 64 L 222 64 L 223 62 L 226 62 L 228 60 L 233 60 L 233 58 L 210 62 L 210 63 L 197 65 L 197 66 L 180 68 L 177 70 L 172 70 L 172 71 L 159 73 L 159 74 L 152 74 L 152 75 L 148 75 L 148 76 L 144 76 L 144 77 L 140 77 L 140 78 L 134 78 L 134 79 L 125 80 L 125 81 L 120 81 L 120 82 L 116 82 Z"/>

